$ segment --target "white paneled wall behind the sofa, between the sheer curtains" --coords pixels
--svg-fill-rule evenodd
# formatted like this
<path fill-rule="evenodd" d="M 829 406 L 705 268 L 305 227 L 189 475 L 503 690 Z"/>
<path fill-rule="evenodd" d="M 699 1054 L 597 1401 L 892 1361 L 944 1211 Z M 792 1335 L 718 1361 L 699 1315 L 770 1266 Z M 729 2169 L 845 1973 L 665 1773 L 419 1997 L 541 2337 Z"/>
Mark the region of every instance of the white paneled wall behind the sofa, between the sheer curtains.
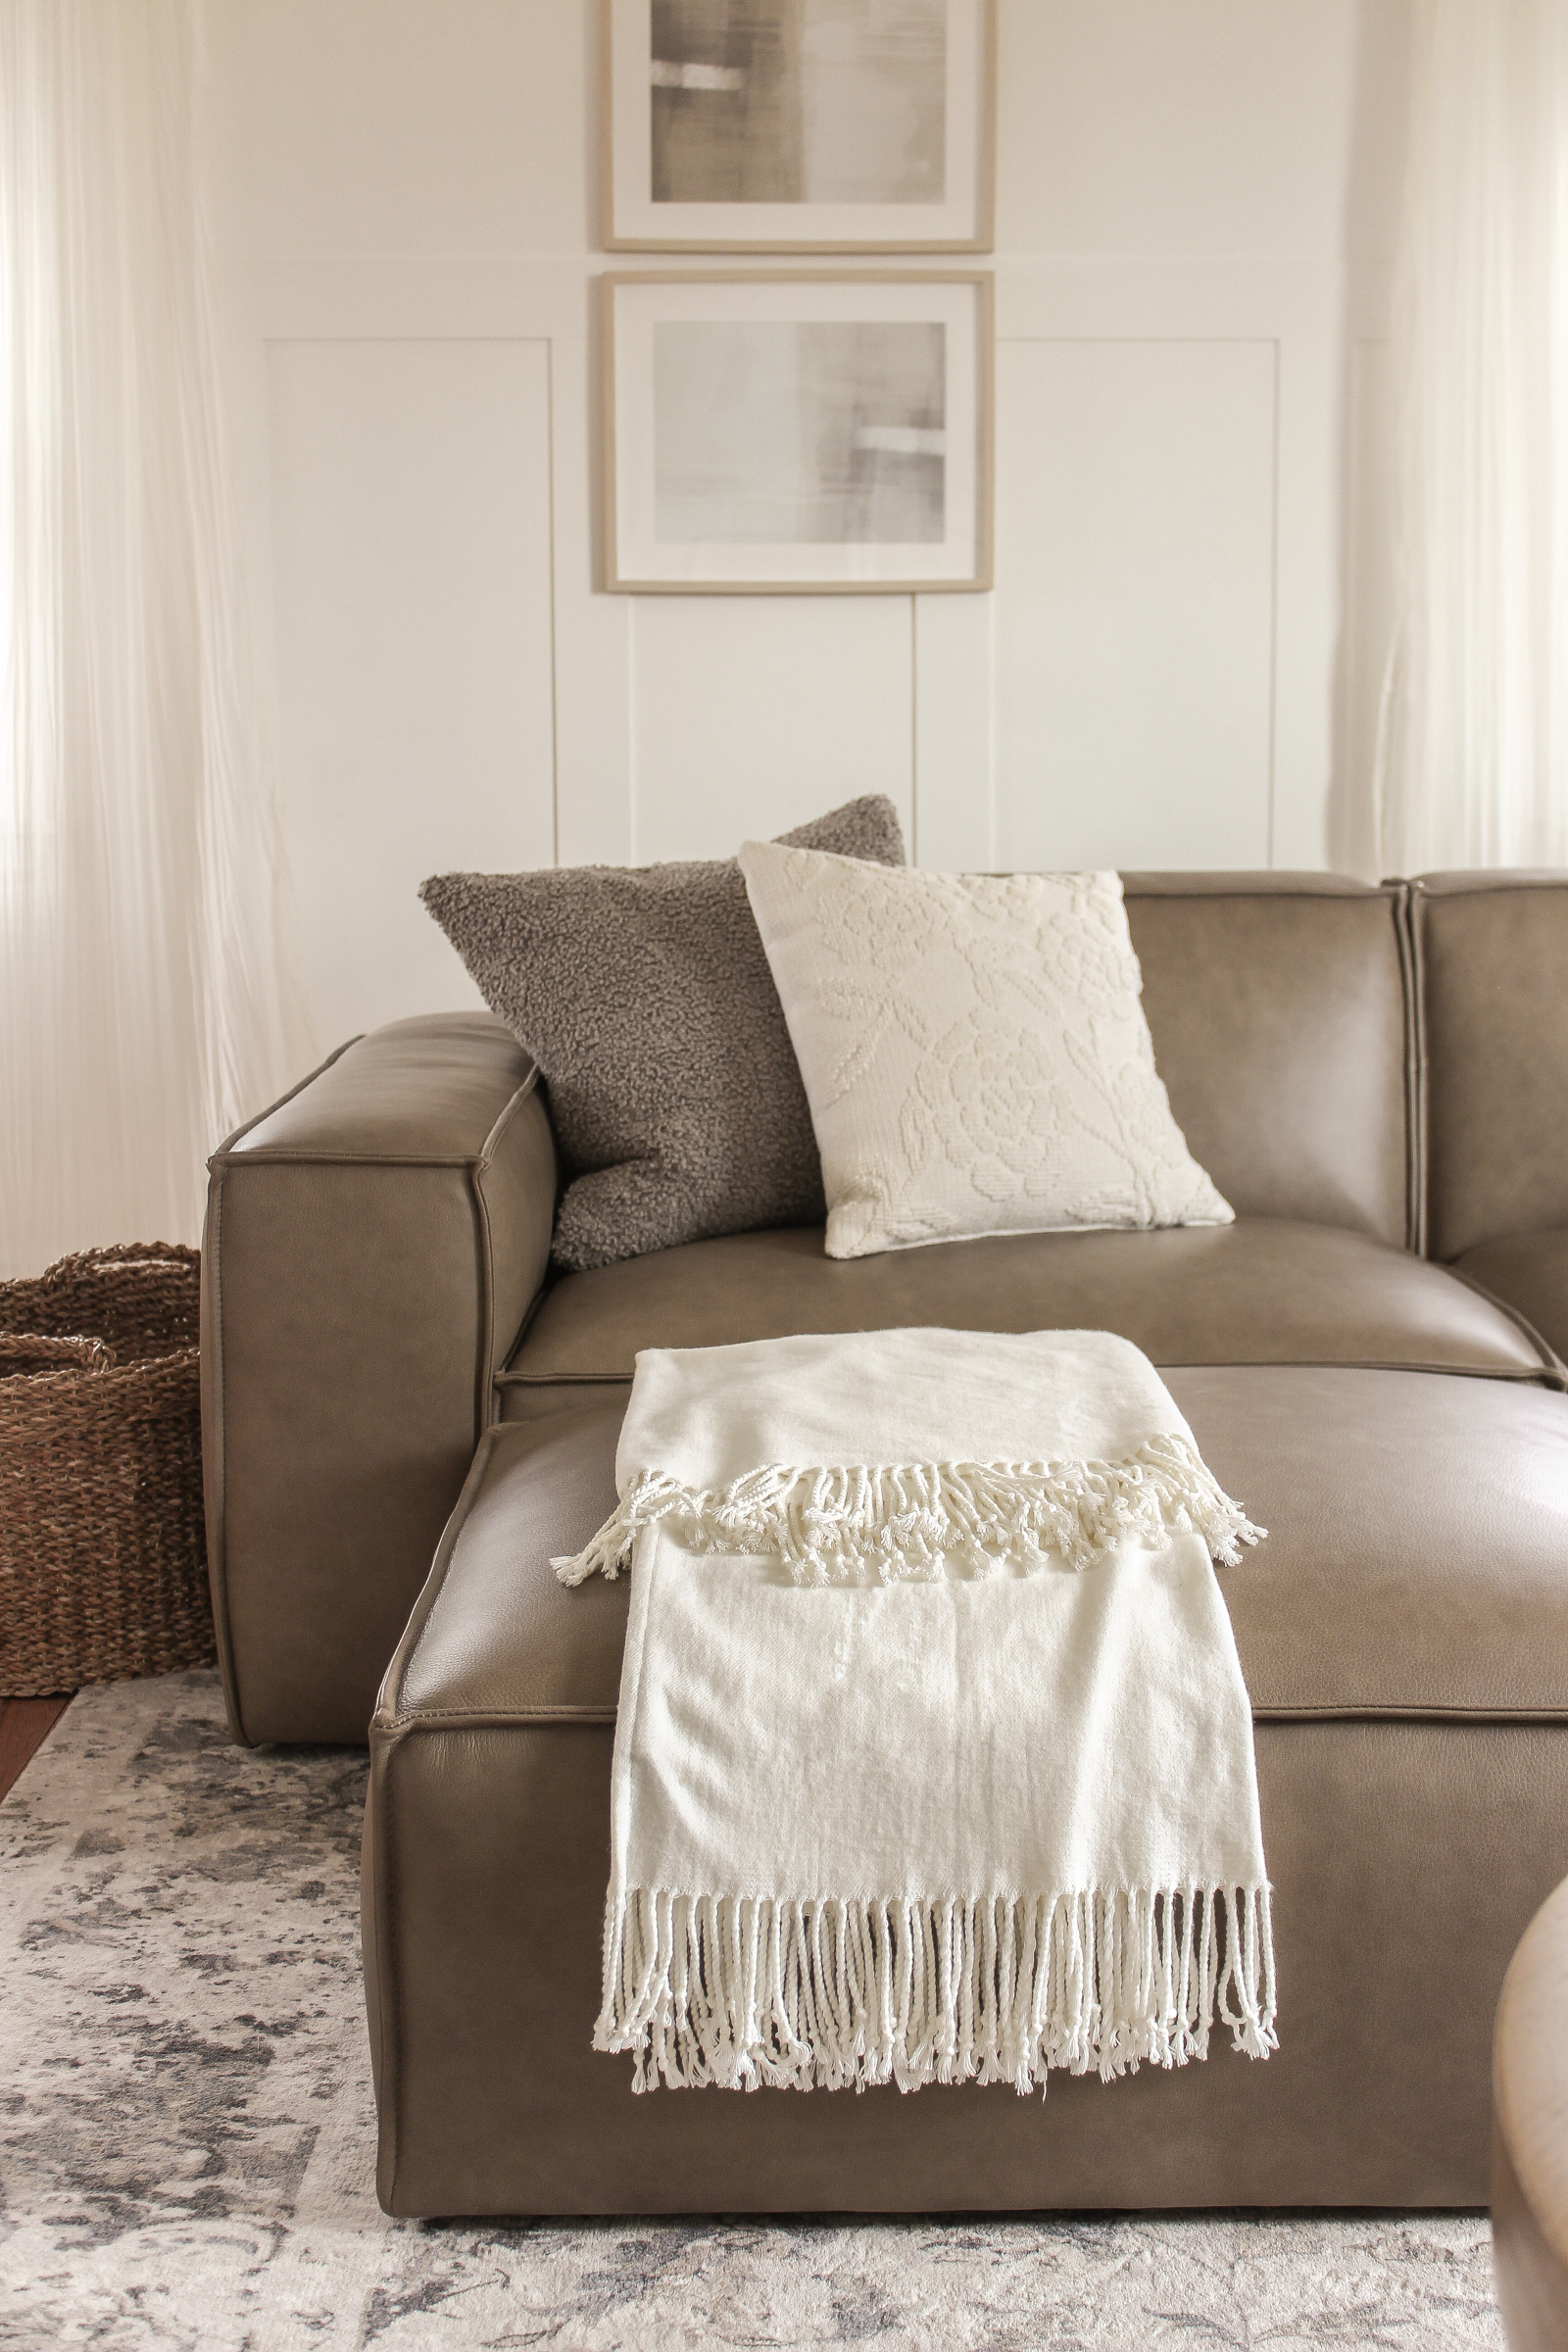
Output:
<path fill-rule="evenodd" d="M 322 1042 L 473 1002 L 430 870 L 860 790 L 929 866 L 1366 868 L 1406 0 L 1001 0 L 987 597 L 595 593 L 597 14 L 212 12 Z"/>

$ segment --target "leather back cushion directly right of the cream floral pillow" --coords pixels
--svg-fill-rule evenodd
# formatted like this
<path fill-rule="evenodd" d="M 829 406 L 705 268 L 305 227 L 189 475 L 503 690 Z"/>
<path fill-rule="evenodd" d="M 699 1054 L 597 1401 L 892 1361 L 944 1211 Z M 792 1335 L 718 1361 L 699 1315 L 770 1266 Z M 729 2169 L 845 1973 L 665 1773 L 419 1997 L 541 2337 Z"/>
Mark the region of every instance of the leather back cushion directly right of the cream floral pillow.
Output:
<path fill-rule="evenodd" d="M 1171 1110 L 1237 1216 L 1410 1244 L 1403 887 L 1338 875 L 1121 882 Z"/>

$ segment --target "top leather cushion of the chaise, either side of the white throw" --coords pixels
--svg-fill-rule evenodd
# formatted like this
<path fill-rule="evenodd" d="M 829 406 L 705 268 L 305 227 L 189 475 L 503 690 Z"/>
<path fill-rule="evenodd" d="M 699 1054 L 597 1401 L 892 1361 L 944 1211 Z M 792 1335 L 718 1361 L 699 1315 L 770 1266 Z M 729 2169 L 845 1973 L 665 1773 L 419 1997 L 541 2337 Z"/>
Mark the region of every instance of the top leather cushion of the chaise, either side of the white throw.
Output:
<path fill-rule="evenodd" d="M 1568 1719 L 1568 1397 L 1324 1367 L 1168 1376 L 1272 1534 L 1222 1569 L 1258 1717 Z M 494 1428 L 386 1691 L 393 1722 L 609 1722 L 628 1578 L 550 1557 L 614 1508 L 625 1388 Z"/>

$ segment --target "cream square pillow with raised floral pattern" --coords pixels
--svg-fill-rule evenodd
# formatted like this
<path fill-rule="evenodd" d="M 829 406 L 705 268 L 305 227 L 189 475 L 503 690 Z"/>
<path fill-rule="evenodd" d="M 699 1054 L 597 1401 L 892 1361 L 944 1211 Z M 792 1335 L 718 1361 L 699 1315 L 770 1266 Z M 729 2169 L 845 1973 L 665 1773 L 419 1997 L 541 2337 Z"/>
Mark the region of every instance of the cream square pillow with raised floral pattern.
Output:
<path fill-rule="evenodd" d="M 929 875 L 748 842 L 827 1256 L 1229 1225 L 1154 1070 L 1121 877 Z"/>

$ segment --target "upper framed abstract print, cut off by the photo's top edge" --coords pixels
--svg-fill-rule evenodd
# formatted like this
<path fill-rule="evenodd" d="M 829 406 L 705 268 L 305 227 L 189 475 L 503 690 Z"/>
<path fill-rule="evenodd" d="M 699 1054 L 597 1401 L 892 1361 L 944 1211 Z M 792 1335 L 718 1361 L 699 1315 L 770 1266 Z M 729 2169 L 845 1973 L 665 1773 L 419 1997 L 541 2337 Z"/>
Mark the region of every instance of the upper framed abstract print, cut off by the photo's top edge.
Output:
<path fill-rule="evenodd" d="M 997 0 L 602 0 L 609 252 L 987 254 Z"/>

